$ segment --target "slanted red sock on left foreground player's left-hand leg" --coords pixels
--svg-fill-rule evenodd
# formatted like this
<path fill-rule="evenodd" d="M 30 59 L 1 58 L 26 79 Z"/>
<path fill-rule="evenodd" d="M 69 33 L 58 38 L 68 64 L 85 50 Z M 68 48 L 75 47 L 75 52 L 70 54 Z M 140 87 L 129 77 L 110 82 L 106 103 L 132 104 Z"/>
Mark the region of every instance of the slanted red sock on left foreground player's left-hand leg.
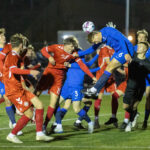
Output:
<path fill-rule="evenodd" d="M 22 130 L 26 125 L 27 123 L 30 121 L 31 119 L 28 118 L 27 116 L 23 115 L 18 121 L 17 121 L 17 124 L 16 126 L 12 129 L 11 133 L 12 134 L 17 134 L 18 131 Z"/>

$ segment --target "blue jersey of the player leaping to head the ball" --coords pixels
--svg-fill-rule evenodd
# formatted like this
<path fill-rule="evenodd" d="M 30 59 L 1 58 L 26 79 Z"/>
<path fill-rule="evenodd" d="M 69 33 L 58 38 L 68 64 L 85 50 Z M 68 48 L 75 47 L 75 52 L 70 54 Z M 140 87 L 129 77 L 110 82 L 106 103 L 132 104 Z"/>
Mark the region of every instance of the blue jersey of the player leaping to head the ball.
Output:
<path fill-rule="evenodd" d="M 112 27 L 104 27 L 103 29 L 100 30 L 102 33 L 102 43 L 105 43 L 106 45 L 112 47 L 115 50 L 115 53 L 123 53 L 125 54 L 130 54 L 133 56 L 134 54 L 134 48 L 132 43 L 117 29 L 112 28 Z M 97 46 L 99 44 L 94 44 L 93 47 L 90 47 L 86 51 L 79 52 L 79 56 L 87 55 L 94 50 L 96 50 Z"/>

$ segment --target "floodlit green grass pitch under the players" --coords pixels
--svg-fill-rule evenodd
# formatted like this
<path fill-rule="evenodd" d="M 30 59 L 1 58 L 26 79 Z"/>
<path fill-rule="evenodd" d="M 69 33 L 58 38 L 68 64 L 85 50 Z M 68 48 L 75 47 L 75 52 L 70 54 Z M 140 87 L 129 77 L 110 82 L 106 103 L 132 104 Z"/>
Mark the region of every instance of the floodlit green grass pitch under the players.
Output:
<path fill-rule="evenodd" d="M 49 103 L 49 96 L 42 95 L 40 99 L 45 106 L 45 113 L 47 105 Z M 138 120 L 138 127 L 131 133 L 121 132 L 113 125 L 105 126 L 104 122 L 107 121 L 111 114 L 111 97 L 109 95 L 104 96 L 101 112 L 99 116 L 101 128 L 94 131 L 93 134 L 88 134 L 87 129 L 79 131 L 73 127 L 73 123 L 77 118 L 77 115 L 70 108 L 69 112 L 64 118 L 62 134 L 52 134 L 55 137 L 51 142 L 37 142 L 35 140 L 35 125 L 29 123 L 27 127 L 23 129 L 24 135 L 20 136 L 23 144 L 13 144 L 6 141 L 6 136 L 11 131 L 8 127 L 8 117 L 5 112 L 5 104 L 0 104 L 0 150 L 29 150 L 29 149 L 67 149 L 67 150 L 95 150 L 95 149 L 150 149 L 150 127 L 147 130 L 142 130 L 142 122 L 144 118 L 145 97 L 139 105 L 140 117 Z M 88 113 L 91 119 L 94 119 L 93 105 Z M 18 117 L 17 117 L 18 118 Z M 119 109 L 117 118 L 119 125 L 124 118 L 124 111 L 122 109 L 122 98 L 119 99 Z M 49 128 L 53 120 L 49 124 Z M 87 127 L 87 123 L 83 122 Z M 149 125 L 150 126 L 150 125 Z"/>

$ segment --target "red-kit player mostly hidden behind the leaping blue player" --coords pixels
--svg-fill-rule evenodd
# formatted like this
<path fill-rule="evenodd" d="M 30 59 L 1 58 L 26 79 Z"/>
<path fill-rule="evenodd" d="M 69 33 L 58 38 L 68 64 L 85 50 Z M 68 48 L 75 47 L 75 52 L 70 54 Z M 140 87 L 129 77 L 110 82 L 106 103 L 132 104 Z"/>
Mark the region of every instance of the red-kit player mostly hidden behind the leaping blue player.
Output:
<path fill-rule="evenodd" d="M 99 79 L 101 77 L 101 75 L 104 73 L 105 68 L 108 66 L 108 64 L 110 63 L 111 57 L 114 54 L 114 49 L 112 49 L 111 47 L 104 45 L 103 47 L 101 47 L 100 52 L 99 52 L 99 58 L 98 58 L 98 65 L 101 68 L 101 70 L 97 71 L 96 73 L 96 77 L 97 79 Z M 118 71 L 122 71 L 120 69 L 117 69 Z M 122 71 L 121 73 L 126 74 L 124 71 Z M 98 95 L 98 99 L 95 100 L 94 103 L 94 112 L 95 112 L 95 122 L 94 122 L 94 127 L 95 128 L 99 128 L 99 111 L 100 111 L 100 107 L 101 107 L 101 101 L 102 101 L 102 97 L 103 97 L 103 93 L 104 90 L 106 90 L 106 92 L 110 92 L 112 94 L 112 117 L 105 122 L 105 125 L 110 125 L 110 124 L 114 124 L 115 127 L 118 127 L 118 120 L 116 118 L 116 114 L 117 114 L 117 109 L 118 109 L 118 98 L 123 95 L 125 88 L 126 88 L 126 82 L 122 82 L 121 84 L 119 84 L 119 86 L 117 87 L 117 84 L 115 82 L 114 76 L 110 76 L 109 80 L 107 81 L 107 83 L 105 84 L 104 88 L 100 91 L 99 95 Z"/>

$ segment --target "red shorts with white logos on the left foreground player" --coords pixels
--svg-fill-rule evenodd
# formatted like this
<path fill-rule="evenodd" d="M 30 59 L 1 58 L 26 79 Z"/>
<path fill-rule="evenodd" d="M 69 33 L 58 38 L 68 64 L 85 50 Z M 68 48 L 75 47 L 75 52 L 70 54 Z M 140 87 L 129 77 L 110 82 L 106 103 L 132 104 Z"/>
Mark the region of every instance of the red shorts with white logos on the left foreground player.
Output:
<path fill-rule="evenodd" d="M 32 105 L 30 100 L 35 97 L 31 92 L 24 90 L 23 93 L 16 93 L 8 96 L 8 99 L 16 106 L 16 108 L 21 112 L 25 112 Z"/>

